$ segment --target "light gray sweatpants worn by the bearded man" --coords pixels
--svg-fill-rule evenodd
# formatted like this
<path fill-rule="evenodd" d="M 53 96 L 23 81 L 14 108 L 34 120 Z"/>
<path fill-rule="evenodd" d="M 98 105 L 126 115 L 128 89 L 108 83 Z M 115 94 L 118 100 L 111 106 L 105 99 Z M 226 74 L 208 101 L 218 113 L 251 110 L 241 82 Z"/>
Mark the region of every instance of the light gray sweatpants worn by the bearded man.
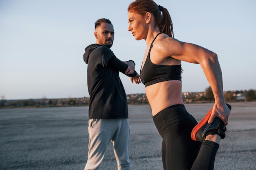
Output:
<path fill-rule="evenodd" d="M 88 124 L 89 150 L 84 170 L 97 170 L 110 141 L 114 147 L 118 170 L 131 170 L 128 119 L 89 119 Z"/>

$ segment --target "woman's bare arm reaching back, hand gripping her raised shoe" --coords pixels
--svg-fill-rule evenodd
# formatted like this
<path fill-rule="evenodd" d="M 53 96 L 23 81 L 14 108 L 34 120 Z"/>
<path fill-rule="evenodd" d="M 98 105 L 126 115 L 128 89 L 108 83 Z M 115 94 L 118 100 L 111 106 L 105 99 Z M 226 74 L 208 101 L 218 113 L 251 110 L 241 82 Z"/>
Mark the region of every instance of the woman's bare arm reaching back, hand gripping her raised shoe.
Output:
<path fill-rule="evenodd" d="M 174 38 L 162 38 L 155 46 L 157 46 L 158 53 L 163 55 L 162 57 L 171 56 L 177 60 L 200 64 L 211 86 L 215 99 L 213 114 L 208 122 L 211 123 L 214 117 L 218 116 L 227 125 L 230 110 L 225 104 L 222 72 L 217 54 L 201 46 L 180 42 Z"/>

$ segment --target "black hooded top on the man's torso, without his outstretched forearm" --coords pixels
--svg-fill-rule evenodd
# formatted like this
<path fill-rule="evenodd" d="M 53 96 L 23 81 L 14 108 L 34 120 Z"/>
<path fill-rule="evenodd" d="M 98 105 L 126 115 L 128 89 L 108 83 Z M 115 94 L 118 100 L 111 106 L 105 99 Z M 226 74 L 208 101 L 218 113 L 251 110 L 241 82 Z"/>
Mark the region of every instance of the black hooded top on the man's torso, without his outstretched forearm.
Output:
<path fill-rule="evenodd" d="M 104 45 L 91 44 L 85 48 L 83 60 L 88 64 L 89 119 L 128 118 L 126 93 L 119 71 L 107 67 L 113 56 L 115 54 Z"/>

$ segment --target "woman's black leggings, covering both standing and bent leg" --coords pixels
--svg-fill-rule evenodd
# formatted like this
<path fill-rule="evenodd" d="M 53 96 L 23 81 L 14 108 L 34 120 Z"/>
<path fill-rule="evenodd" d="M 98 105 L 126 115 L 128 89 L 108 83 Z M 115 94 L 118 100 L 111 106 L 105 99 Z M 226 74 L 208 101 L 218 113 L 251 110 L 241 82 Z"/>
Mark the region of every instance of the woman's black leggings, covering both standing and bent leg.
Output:
<path fill-rule="evenodd" d="M 219 145 L 212 141 L 201 143 L 191 139 L 192 129 L 198 123 L 184 105 L 165 108 L 153 120 L 163 138 L 164 170 L 213 170 Z"/>

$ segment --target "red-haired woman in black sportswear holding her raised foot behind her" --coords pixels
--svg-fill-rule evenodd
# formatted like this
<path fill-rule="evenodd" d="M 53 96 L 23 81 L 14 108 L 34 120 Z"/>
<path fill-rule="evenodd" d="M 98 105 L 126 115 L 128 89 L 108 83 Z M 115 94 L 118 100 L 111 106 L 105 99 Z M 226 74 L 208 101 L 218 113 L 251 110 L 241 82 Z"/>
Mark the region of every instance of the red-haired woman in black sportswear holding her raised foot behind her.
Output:
<path fill-rule="evenodd" d="M 217 55 L 174 39 L 170 14 L 153 0 L 132 2 L 128 22 L 135 40 L 144 39 L 147 45 L 140 76 L 163 138 L 164 170 L 212 170 L 231 109 L 225 104 Z M 213 108 L 199 124 L 184 107 L 181 61 L 200 64 L 213 91 Z"/>

